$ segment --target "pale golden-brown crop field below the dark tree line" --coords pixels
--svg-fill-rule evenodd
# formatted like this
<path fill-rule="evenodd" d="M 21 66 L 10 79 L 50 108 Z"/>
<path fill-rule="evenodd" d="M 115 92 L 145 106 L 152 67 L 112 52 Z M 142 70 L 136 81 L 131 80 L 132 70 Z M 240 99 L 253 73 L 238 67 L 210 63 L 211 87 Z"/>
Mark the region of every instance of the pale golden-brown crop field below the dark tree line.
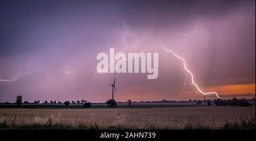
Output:
<path fill-rule="evenodd" d="M 255 106 L 0 109 L 7 129 L 255 129 Z"/>

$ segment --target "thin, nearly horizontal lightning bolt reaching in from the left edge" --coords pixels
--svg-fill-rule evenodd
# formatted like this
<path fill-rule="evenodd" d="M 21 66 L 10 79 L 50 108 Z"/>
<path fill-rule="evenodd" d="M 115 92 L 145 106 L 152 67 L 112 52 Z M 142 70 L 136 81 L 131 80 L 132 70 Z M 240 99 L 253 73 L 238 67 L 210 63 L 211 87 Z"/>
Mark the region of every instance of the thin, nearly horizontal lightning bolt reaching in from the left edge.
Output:
<path fill-rule="evenodd" d="M 30 74 L 30 73 L 36 73 L 36 72 L 62 72 L 62 73 L 77 73 L 77 74 L 81 74 L 81 75 L 85 75 L 86 73 L 81 73 L 78 72 L 76 70 L 72 70 L 72 71 L 65 71 L 65 70 L 57 70 L 57 69 L 47 69 L 47 70 L 32 70 L 30 72 L 25 72 L 25 73 L 20 73 L 18 74 L 18 76 L 11 78 L 10 80 L 2 80 L 0 79 L 0 81 L 5 81 L 5 82 L 11 82 L 11 81 L 15 81 L 16 79 L 18 79 L 19 77 L 22 77 L 26 74 Z"/>

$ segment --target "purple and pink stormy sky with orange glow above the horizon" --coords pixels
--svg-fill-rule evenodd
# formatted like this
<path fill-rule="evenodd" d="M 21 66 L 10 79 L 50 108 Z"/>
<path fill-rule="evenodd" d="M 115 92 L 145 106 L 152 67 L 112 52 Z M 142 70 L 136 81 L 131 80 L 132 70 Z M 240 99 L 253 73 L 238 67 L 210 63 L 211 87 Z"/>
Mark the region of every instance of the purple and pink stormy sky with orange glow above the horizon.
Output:
<path fill-rule="evenodd" d="M 196 32 L 193 32 L 196 31 Z M 203 99 L 204 92 L 255 97 L 255 1 L 1 1 L 0 102 Z M 159 74 L 94 75 L 97 54 L 159 53 Z M 88 68 L 78 62 L 84 63 Z M 88 70 L 89 69 L 89 70 Z M 249 95 L 247 93 L 250 93 Z M 207 98 L 214 99 L 214 95 Z"/>

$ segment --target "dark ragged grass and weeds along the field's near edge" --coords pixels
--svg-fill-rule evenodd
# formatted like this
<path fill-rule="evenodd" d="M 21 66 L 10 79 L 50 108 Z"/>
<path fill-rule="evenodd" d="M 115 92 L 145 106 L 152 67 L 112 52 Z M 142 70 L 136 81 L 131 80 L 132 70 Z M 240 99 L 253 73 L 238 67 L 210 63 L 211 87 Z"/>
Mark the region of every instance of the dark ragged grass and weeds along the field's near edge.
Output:
<path fill-rule="evenodd" d="M 38 118 L 38 117 L 37 117 Z M 226 123 L 223 121 L 218 124 L 217 127 L 215 127 L 214 122 L 216 121 L 210 121 L 209 119 L 201 119 L 199 121 L 188 121 L 189 119 L 183 119 L 179 122 L 173 122 L 173 121 L 166 121 L 164 119 L 162 122 L 157 124 L 152 124 L 155 121 L 150 119 L 147 121 L 144 121 L 144 124 L 148 126 L 139 127 L 138 125 L 127 125 L 126 123 L 117 123 L 114 125 L 105 126 L 102 125 L 102 123 L 91 121 L 79 123 L 77 125 L 72 123 L 64 123 L 61 121 L 55 121 L 53 123 L 53 118 L 48 117 L 46 119 L 42 119 L 46 122 L 39 122 L 39 121 L 32 121 L 31 123 L 23 123 L 19 124 L 16 123 L 16 121 L 12 121 L 11 123 L 7 123 L 6 121 L 0 122 L 0 128 L 3 129 L 85 129 L 85 130 L 97 130 L 97 129 L 184 129 L 184 130 L 210 130 L 210 129 L 222 129 L 222 130 L 255 130 L 255 118 L 246 118 L 246 119 L 226 119 Z M 54 119 L 55 120 L 55 119 Z M 199 122 L 204 122 L 199 123 Z M 207 121 L 207 122 L 205 122 Z M 236 122 L 234 122 L 236 121 Z M 159 121 L 158 121 L 159 122 Z M 164 125 L 164 123 L 168 123 L 168 125 Z"/>

